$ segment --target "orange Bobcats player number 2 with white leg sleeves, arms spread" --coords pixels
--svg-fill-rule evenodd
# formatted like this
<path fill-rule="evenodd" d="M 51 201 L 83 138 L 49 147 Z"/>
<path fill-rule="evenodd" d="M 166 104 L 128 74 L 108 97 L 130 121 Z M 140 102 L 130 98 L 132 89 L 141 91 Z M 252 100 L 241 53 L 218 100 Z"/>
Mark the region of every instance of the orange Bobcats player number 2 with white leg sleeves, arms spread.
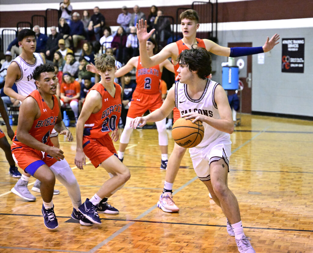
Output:
<path fill-rule="evenodd" d="M 150 56 L 154 55 L 157 50 L 157 44 L 153 38 L 146 42 L 146 51 Z M 136 67 L 137 86 L 131 99 L 131 105 L 128 109 L 126 124 L 121 134 L 118 157 L 121 161 L 124 159 L 124 152 L 131 137 L 132 128 L 129 123 L 133 118 L 142 116 L 147 110 L 150 112 L 162 106 L 162 94 L 160 92 L 160 79 L 163 67 L 174 72 L 172 63 L 165 59 L 163 62 L 152 67 L 142 67 L 140 56 L 132 57 L 124 67 L 121 67 L 116 76 L 120 77 L 130 72 Z M 161 150 L 161 166 L 160 169 L 166 170 L 167 167 L 167 145 L 168 138 L 166 132 L 166 119 L 156 122 L 156 128 L 159 134 L 159 146 Z"/>

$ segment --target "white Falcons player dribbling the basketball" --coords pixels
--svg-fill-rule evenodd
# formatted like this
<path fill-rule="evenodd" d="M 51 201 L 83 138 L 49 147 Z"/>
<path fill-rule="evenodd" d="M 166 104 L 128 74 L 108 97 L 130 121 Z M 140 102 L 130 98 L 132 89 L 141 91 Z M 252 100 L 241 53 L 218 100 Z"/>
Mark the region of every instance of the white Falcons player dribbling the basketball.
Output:
<path fill-rule="evenodd" d="M 136 128 L 140 123 L 143 126 L 146 122 L 160 121 L 175 105 L 181 116 L 203 123 L 203 141 L 189 149 L 193 168 L 227 217 L 228 234 L 235 236 L 239 252 L 255 253 L 251 238 L 244 234 L 237 199 L 227 185 L 231 155 L 229 134 L 234 131 L 234 124 L 226 93 L 223 87 L 206 78 L 212 70 L 211 57 L 206 49 L 186 49 L 179 54 L 177 62 L 180 82 L 169 90 L 161 108 L 133 119 L 131 126 Z M 166 195 L 164 203 L 158 202 L 158 206 L 165 206 L 167 198 L 171 196 Z"/>

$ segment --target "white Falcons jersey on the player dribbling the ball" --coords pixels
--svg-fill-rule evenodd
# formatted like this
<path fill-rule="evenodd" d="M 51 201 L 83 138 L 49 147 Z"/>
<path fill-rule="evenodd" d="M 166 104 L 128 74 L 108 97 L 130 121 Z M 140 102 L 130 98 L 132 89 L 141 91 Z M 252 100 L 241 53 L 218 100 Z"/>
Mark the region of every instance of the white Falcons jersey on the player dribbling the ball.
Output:
<path fill-rule="evenodd" d="M 175 84 L 175 105 L 180 112 L 180 116 L 183 117 L 188 112 L 197 112 L 208 117 L 213 117 L 214 119 L 220 119 L 221 117 L 214 101 L 214 91 L 218 85 L 220 84 L 208 79 L 201 97 L 195 100 L 189 97 L 187 84 L 177 82 Z M 203 122 L 203 126 L 203 140 L 197 147 L 208 146 L 217 139 L 230 141 L 230 135 L 228 133 L 219 131 L 205 122 Z"/>

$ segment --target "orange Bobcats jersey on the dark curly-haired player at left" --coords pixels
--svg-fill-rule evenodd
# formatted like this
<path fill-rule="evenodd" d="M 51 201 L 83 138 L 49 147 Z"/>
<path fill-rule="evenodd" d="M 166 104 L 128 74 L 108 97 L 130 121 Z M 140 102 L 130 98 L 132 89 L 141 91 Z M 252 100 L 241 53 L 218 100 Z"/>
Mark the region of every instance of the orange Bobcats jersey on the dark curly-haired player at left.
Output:
<path fill-rule="evenodd" d="M 33 97 L 36 100 L 41 112 L 40 117 L 34 120 L 33 126 L 29 130 L 29 134 L 33 136 L 37 141 L 47 143 L 50 139 L 50 132 L 53 129 L 59 116 L 60 108 L 58 99 L 55 95 L 52 96 L 54 105 L 53 108 L 50 109 L 46 102 L 44 102 L 44 99 L 41 97 L 38 90 L 34 90 L 28 95 L 28 97 L 29 96 Z M 13 138 L 13 143 L 17 146 L 28 147 L 27 145 L 18 141 L 18 139 L 16 138 L 16 131 Z"/>

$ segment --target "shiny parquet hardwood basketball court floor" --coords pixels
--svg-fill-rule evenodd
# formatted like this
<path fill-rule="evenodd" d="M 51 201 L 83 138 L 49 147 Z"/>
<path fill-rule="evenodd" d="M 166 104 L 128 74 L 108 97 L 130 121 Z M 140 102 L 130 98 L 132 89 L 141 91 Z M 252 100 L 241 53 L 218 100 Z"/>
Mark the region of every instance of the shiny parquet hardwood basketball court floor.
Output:
<path fill-rule="evenodd" d="M 75 128 L 70 130 L 75 136 Z M 168 135 L 170 154 L 171 131 Z M 90 164 L 78 170 L 75 142 L 64 142 L 63 136 L 59 140 L 85 201 L 108 175 Z M 228 185 L 256 252 L 313 252 L 312 122 L 243 115 L 231 140 Z M 234 237 L 227 234 L 226 218 L 197 179 L 188 153 L 174 183 L 179 213 L 156 207 L 165 176 L 159 168 L 157 141 L 156 129 L 133 131 L 124 157 L 131 179 L 109 199 L 120 213 L 100 214 L 101 226 L 80 226 L 70 218 L 71 201 L 57 181 L 55 188 L 61 193 L 53 198 L 56 231 L 44 226 L 38 193 L 32 192 L 36 202 L 10 193 L 17 179 L 8 175 L 1 150 L 0 252 L 238 252 Z M 30 180 L 29 189 L 34 181 Z"/>

